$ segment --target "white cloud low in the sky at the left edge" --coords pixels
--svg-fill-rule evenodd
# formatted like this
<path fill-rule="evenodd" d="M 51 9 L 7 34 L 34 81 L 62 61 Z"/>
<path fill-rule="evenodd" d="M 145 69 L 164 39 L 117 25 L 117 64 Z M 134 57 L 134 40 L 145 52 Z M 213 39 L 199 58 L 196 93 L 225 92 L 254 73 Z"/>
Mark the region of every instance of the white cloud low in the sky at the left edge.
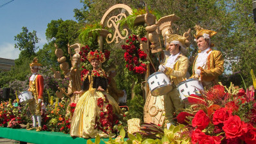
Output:
<path fill-rule="evenodd" d="M 20 51 L 19 49 L 14 48 L 14 44 L 3 43 L 0 44 L 0 58 L 6 58 L 15 60 L 19 58 Z"/>

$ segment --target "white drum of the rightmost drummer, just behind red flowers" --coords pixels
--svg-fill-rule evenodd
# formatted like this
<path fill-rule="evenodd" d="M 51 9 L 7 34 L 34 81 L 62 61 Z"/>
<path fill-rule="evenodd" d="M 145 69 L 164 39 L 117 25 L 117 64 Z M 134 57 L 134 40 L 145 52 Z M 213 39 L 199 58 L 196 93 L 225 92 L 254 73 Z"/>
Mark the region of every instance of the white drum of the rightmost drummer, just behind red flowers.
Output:
<path fill-rule="evenodd" d="M 177 89 L 180 93 L 180 99 L 186 99 L 186 96 L 191 94 L 198 94 L 199 90 L 204 90 L 204 86 L 201 81 L 197 79 L 187 79 L 178 84 Z"/>

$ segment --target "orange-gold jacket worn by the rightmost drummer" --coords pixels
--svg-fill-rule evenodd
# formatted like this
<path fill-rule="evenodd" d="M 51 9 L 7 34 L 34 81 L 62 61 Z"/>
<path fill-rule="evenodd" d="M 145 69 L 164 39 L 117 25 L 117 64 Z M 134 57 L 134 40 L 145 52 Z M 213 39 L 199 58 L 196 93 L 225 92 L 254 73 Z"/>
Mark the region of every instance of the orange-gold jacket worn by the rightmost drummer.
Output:
<path fill-rule="evenodd" d="M 197 59 L 198 56 L 196 56 Z M 191 77 L 195 77 L 195 63 L 196 59 L 193 63 L 193 75 Z M 205 67 L 201 69 L 201 81 L 206 90 L 209 90 L 212 86 L 218 84 L 218 76 L 220 76 L 224 71 L 224 60 L 222 56 L 222 52 L 220 51 L 212 51 L 211 54 L 207 57 L 207 62 L 205 63 Z"/>

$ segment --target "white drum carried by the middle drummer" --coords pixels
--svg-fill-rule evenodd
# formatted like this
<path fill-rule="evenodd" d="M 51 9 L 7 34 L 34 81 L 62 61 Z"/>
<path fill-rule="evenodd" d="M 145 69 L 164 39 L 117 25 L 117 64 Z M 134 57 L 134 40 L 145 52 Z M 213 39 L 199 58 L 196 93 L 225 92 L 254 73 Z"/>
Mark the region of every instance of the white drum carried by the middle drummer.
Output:
<path fill-rule="evenodd" d="M 150 75 L 147 82 L 153 96 L 164 95 L 172 90 L 172 83 L 163 72 L 155 72 Z"/>

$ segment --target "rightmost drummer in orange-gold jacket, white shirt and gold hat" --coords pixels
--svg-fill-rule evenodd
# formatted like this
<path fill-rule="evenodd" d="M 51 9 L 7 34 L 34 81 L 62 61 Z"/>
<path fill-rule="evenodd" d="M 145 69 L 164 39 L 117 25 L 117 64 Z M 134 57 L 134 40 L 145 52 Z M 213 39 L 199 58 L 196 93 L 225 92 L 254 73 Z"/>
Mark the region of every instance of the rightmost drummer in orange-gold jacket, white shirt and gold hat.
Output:
<path fill-rule="evenodd" d="M 218 76 L 223 73 L 224 60 L 220 51 L 212 51 L 211 37 L 216 35 L 215 31 L 195 26 L 195 41 L 198 46 L 198 56 L 193 63 L 193 75 L 202 81 L 205 90 L 218 84 Z"/>

